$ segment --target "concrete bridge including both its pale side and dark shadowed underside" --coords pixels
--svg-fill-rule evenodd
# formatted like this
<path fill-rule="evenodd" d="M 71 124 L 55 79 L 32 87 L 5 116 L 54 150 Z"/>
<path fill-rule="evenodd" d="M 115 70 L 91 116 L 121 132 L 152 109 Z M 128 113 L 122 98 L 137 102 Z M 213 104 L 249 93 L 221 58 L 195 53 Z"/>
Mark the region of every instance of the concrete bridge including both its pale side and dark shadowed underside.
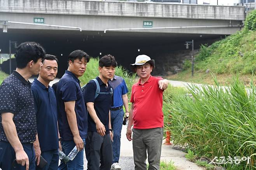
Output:
<path fill-rule="evenodd" d="M 75 49 L 91 56 L 113 54 L 121 64 L 140 53 L 153 55 L 163 47 L 167 52 L 184 48 L 194 39 L 195 46 L 211 43 L 240 30 L 245 19 L 242 6 L 212 6 L 174 3 L 145 3 L 88 0 L 0 0 L 0 21 L 80 27 L 74 29 L 8 24 L 8 33 L 0 32 L 0 48 L 9 53 L 9 40 L 42 43 L 48 53 L 65 57 Z M 151 25 L 144 25 L 147 21 Z M 146 22 L 146 23 L 147 23 Z M 1 23 L 0 23 L 1 24 Z M 3 24 L 3 23 L 2 23 Z M 227 26 L 222 28 L 148 29 L 107 31 L 111 28 Z M 233 27 L 229 27 L 233 26 Z M 2 26 L 1 26 L 2 27 Z M 144 50 L 143 50 L 144 49 Z M 65 57 L 64 57 L 65 56 Z M 121 59 L 122 58 L 122 59 Z"/>

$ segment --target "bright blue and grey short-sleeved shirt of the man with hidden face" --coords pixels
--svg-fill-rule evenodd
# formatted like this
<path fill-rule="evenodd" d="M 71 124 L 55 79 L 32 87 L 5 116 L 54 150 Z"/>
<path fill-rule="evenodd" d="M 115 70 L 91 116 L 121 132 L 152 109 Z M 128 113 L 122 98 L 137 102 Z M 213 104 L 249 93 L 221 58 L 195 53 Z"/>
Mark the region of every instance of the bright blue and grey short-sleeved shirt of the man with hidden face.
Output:
<path fill-rule="evenodd" d="M 122 95 L 128 93 L 128 88 L 124 82 L 124 79 L 120 76 L 114 75 L 113 80 L 109 80 L 109 84 L 114 89 L 114 104 L 111 106 L 111 108 L 123 106 Z"/>

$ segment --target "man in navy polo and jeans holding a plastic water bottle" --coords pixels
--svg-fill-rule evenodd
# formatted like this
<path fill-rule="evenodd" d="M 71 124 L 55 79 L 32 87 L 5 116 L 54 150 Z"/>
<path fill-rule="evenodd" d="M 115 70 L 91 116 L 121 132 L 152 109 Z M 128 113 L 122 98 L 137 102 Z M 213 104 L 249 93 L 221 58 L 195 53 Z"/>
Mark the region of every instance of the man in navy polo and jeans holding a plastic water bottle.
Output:
<path fill-rule="evenodd" d="M 83 170 L 83 148 L 87 136 L 87 112 L 82 96 L 79 77 L 86 70 L 89 56 L 82 50 L 75 50 L 68 56 L 68 70 L 57 85 L 58 125 L 62 151 L 68 155 L 76 146 L 79 153 L 67 166 L 62 161 L 59 169 Z"/>

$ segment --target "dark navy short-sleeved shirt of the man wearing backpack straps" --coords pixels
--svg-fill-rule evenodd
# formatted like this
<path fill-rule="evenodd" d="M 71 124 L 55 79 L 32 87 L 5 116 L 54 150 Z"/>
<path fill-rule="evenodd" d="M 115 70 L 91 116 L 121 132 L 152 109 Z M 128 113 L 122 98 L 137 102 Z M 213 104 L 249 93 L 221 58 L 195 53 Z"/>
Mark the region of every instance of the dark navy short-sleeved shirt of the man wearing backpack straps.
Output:
<path fill-rule="evenodd" d="M 94 81 L 89 81 L 86 84 L 86 87 L 84 89 L 84 101 L 85 103 L 93 102 L 94 103 L 94 109 L 96 111 L 96 114 L 102 124 L 105 126 L 106 134 L 109 134 L 109 109 L 112 104 L 112 95 L 109 94 L 111 92 L 110 90 L 110 84 L 108 82 L 108 86 L 102 82 L 102 80 L 99 77 L 96 77 L 96 80 L 98 80 L 98 83 L 100 85 L 100 92 L 106 92 L 108 94 L 99 94 L 96 99 L 95 97 L 95 91 L 96 91 L 96 83 Z M 97 132 L 96 130 L 96 124 L 94 123 L 93 119 L 91 118 L 90 114 L 88 113 L 88 131 Z"/>

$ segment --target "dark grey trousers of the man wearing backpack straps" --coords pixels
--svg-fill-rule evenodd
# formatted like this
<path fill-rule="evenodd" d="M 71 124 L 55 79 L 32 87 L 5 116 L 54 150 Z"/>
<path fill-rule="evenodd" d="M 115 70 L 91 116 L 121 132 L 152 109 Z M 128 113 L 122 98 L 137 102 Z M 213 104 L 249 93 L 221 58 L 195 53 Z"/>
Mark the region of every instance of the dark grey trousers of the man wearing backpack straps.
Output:
<path fill-rule="evenodd" d="M 88 132 L 85 154 L 87 170 L 110 170 L 113 160 L 110 135 L 100 136 L 97 132 Z"/>

